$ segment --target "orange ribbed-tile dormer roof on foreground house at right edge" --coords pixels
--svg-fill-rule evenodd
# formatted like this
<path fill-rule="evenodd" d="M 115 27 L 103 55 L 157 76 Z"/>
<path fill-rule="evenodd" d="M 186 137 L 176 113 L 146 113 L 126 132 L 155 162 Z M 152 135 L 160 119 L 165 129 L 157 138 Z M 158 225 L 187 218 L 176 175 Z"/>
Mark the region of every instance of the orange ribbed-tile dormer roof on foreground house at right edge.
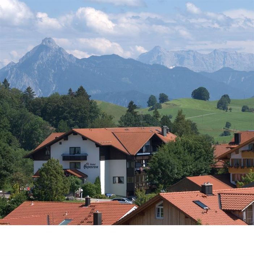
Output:
<path fill-rule="evenodd" d="M 224 192 L 219 195 L 223 210 L 242 211 L 254 201 L 254 194 L 227 194 Z"/>

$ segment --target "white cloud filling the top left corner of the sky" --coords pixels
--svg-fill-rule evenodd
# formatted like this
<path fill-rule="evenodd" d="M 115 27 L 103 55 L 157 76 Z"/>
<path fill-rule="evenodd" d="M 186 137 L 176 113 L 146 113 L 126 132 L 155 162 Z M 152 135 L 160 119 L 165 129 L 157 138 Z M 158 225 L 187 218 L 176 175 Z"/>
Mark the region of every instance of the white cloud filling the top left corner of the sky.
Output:
<path fill-rule="evenodd" d="M 23 2 L 17 0 L 0 1 L 0 20 L 8 25 L 22 25 L 33 18 L 33 13 Z"/>

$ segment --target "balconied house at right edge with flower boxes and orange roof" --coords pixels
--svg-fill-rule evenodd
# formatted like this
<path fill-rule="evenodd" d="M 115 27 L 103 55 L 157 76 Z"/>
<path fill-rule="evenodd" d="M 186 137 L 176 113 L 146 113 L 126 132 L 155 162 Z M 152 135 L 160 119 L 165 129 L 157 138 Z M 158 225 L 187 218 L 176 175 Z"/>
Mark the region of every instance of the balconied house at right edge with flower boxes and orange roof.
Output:
<path fill-rule="evenodd" d="M 239 131 L 228 144 L 229 151 L 217 157 L 229 161 L 230 182 L 236 184 L 250 170 L 254 171 L 254 131 Z"/>

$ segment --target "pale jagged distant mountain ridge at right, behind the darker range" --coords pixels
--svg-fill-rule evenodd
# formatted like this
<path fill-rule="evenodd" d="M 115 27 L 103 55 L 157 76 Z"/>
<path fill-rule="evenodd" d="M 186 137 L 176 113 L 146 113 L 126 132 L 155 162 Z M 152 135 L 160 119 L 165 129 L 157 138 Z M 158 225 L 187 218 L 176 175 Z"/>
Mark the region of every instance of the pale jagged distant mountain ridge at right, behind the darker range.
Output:
<path fill-rule="evenodd" d="M 168 68 L 182 66 L 195 72 L 215 72 L 225 67 L 240 71 L 254 70 L 254 54 L 226 52 L 221 49 L 203 54 L 193 50 L 168 51 L 155 46 L 149 52 L 140 54 L 137 60 L 146 64 L 164 65 Z"/>

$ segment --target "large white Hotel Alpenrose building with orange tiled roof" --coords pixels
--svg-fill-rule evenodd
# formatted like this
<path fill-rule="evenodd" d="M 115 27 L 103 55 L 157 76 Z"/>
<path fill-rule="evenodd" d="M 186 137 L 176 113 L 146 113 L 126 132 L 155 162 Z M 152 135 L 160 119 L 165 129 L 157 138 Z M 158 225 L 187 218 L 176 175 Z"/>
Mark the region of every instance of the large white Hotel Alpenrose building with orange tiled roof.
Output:
<path fill-rule="evenodd" d="M 166 126 L 71 129 L 52 133 L 26 157 L 34 160 L 34 177 L 55 158 L 66 175 L 92 183 L 100 176 L 102 194 L 130 196 L 137 188 L 149 190 L 144 167 L 158 146 L 175 138 Z"/>

